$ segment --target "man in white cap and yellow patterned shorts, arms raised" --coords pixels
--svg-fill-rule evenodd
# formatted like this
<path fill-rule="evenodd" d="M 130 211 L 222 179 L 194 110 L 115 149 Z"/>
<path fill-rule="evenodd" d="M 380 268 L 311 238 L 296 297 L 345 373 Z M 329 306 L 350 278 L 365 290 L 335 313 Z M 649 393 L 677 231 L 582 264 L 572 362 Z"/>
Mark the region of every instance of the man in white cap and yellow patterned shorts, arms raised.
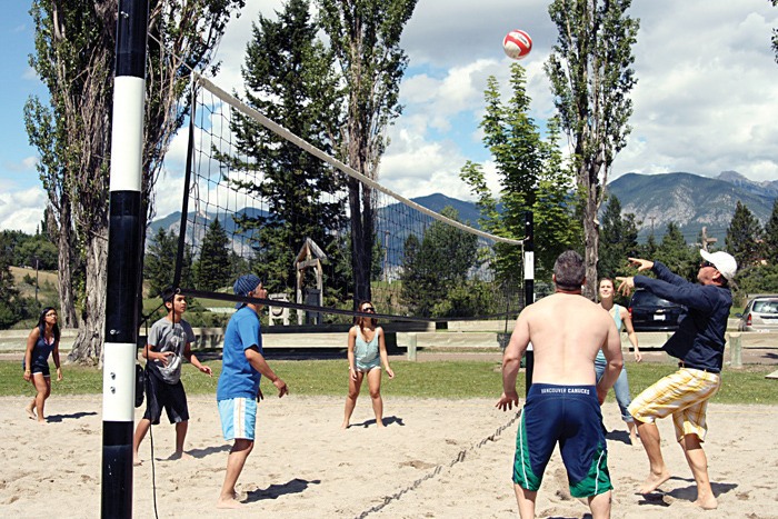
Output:
<path fill-rule="evenodd" d="M 629 258 L 629 261 L 638 267 L 638 271 L 651 270 L 657 279 L 645 276 L 616 279 L 621 282 L 619 290 L 625 295 L 640 287 L 689 309 L 679 322 L 678 331 L 662 347 L 680 360 L 680 369 L 646 389 L 629 406 L 650 465 L 649 476 L 639 491 L 650 493 L 670 479 L 655 420 L 672 415 L 676 438 L 697 482 L 695 505 L 712 509 L 718 502 L 710 488 L 702 441 L 708 430 L 708 400 L 721 387 L 724 335 L 732 306 L 729 282 L 737 272 L 737 262 L 722 251 L 711 253 L 700 250 L 700 256 L 702 261 L 697 272 L 699 283 L 676 276 L 659 261 L 636 258 Z"/>

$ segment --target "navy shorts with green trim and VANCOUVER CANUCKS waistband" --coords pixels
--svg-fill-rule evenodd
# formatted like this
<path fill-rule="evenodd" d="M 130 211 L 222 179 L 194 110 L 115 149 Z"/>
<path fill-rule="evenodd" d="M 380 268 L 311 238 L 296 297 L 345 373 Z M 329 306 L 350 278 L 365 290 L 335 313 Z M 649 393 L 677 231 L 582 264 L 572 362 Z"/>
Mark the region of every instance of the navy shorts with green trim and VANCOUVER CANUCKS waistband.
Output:
<path fill-rule="evenodd" d="M 595 386 L 532 385 L 516 438 L 513 482 L 537 491 L 557 442 L 572 497 L 614 488 Z"/>

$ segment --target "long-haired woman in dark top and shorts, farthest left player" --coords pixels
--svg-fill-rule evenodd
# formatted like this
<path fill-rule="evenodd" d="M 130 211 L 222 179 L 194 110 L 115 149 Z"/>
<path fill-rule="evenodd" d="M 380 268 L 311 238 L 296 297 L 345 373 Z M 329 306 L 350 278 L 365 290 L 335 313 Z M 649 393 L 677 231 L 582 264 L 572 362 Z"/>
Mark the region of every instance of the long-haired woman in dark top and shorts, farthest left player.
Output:
<path fill-rule="evenodd" d="M 57 380 L 62 380 L 62 368 L 59 363 L 59 337 L 57 310 L 52 307 L 47 307 L 40 312 L 38 326 L 27 337 L 27 349 L 22 361 L 24 380 L 31 382 L 37 391 L 36 397 L 24 410 L 30 419 L 37 419 L 38 423 L 46 423 L 43 406 L 46 405 L 46 399 L 51 395 L 49 356 L 54 359 Z"/>

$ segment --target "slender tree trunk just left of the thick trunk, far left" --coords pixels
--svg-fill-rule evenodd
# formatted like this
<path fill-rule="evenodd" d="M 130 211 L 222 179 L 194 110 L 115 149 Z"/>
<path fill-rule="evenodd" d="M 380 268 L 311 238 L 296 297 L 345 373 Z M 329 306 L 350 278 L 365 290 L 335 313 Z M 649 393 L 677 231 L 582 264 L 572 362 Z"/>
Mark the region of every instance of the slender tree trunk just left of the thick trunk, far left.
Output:
<path fill-rule="evenodd" d="M 63 197 L 64 198 L 64 197 Z M 72 220 L 70 218 L 70 201 L 62 200 L 59 210 L 59 224 L 54 217 L 54 211 L 49 211 L 49 222 L 47 226 L 58 236 L 57 250 L 57 279 L 59 280 L 59 316 L 63 328 L 77 328 L 76 303 L 73 298 L 73 276 L 72 276 Z"/>

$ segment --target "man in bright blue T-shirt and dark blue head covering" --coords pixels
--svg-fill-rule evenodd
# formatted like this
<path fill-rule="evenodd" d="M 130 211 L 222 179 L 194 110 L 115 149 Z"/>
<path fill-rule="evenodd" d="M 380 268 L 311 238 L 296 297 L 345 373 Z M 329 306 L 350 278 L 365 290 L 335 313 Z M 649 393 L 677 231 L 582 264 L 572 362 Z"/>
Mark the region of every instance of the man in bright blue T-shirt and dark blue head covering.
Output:
<path fill-rule="evenodd" d="M 255 275 L 238 278 L 232 287 L 236 296 L 266 299 L 268 291 Z M 221 375 L 216 390 L 221 430 L 225 440 L 235 440 L 227 458 L 227 473 L 217 508 L 240 508 L 235 485 L 251 453 L 257 422 L 257 402 L 262 392 L 259 381 L 266 376 L 278 389 L 278 396 L 289 392 L 262 356 L 262 335 L 259 325 L 261 305 L 239 302 L 225 331 Z"/>

